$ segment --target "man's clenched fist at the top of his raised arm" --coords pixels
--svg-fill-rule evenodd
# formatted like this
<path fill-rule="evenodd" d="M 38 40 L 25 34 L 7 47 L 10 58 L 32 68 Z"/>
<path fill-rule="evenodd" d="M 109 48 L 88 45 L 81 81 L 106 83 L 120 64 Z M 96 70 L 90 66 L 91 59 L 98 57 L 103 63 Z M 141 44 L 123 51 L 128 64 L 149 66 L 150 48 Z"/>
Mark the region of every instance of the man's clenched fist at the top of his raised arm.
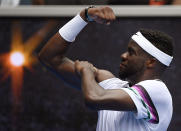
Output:
<path fill-rule="evenodd" d="M 88 15 L 97 23 L 109 25 L 116 19 L 113 10 L 110 7 L 95 7 L 88 9 Z M 85 9 L 80 12 L 80 16 L 85 19 Z"/>

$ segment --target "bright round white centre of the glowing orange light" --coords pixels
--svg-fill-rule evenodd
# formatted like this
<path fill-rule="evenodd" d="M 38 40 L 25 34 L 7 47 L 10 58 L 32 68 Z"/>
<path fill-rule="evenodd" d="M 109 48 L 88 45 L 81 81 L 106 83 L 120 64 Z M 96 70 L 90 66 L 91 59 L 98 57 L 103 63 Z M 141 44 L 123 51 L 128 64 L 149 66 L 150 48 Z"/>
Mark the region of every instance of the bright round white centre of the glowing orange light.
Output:
<path fill-rule="evenodd" d="M 14 66 L 22 66 L 24 61 L 24 54 L 21 52 L 13 52 L 10 56 L 10 62 Z"/>

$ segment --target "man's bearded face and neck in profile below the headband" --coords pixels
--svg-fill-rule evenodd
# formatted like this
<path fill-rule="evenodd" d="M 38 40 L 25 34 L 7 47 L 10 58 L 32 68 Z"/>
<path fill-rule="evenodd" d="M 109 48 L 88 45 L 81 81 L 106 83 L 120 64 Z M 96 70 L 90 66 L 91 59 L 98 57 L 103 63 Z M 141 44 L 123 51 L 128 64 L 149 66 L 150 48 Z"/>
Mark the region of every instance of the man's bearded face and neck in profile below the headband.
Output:
<path fill-rule="evenodd" d="M 133 85 L 149 79 L 160 79 L 160 63 L 141 49 L 133 40 L 128 44 L 127 52 L 121 55 L 119 76 Z"/>

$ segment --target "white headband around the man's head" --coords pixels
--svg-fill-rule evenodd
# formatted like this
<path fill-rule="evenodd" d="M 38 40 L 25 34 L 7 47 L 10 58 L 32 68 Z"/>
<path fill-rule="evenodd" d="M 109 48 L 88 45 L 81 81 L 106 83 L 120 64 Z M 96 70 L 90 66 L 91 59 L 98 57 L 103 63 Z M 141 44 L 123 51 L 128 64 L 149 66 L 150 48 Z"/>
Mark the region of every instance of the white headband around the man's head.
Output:
<path fill-rule="evenodd" d="M 143 50 L 155 57 L 162 64 L 169 66 L 173 57 L 156 48 L 148 41 L 140 32 L 137 32 L 131 37 Z"/>

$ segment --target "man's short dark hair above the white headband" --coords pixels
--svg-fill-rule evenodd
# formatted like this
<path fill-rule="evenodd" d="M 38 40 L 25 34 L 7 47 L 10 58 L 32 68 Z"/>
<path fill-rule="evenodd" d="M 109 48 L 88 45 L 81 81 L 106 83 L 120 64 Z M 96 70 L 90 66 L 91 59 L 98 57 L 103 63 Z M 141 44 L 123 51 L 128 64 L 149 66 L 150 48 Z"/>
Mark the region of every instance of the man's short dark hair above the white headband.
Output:
<path fill-rule="evenodd" d="M 173 38 L 164 32 L 150 29 L 140 29 L 142 35 L 155 47 L 164 53 L 173 56 Z"/>

